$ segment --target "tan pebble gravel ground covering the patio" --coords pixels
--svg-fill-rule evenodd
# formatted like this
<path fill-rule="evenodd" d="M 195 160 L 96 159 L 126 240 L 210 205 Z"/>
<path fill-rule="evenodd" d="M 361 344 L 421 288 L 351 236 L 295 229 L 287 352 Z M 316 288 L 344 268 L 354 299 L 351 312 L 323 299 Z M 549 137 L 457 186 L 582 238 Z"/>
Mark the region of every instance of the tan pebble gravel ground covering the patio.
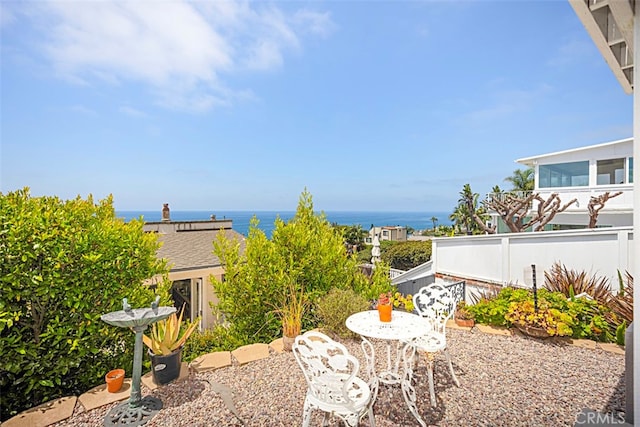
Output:
<path fill-rule="evenodd" d="M 428 425 L 572 426 L 584 408 L 624 411 L 624 356 L 600 349 L 570 346 L 520 335 L 501 336 L 473 330 L 447 330 L 460 387 L 449 375 L 444 357 L 436 358 L 438 406 L 429 403 L 424 364 L 417 369 L 418 410 Z M 361 363 L 359 340 L 342 340 Z M 381 344 L 376 344 L 381 354 Z M 363 372 L 363 368 L 361 368 Z M 232 391 L 239 419 L 211 384 Z M 302 423 L 306 383 L 291 353 L 230 366 L 149 392 L 164 408 L 148 424 L 169 426 L 295 426 Z M 102 426 L 115 404 L 92 411 L 76 407 L 73 417 L 55 424 Z M 376 425 L 416 426 L 399 388 L 382 387 L 374 406 Z M 316 413 L 312 425 L 321 425 Z M 330 425 L 342 425 L 332 419 Z M 368 425 L 365 417 L 361 425 Z"/>

